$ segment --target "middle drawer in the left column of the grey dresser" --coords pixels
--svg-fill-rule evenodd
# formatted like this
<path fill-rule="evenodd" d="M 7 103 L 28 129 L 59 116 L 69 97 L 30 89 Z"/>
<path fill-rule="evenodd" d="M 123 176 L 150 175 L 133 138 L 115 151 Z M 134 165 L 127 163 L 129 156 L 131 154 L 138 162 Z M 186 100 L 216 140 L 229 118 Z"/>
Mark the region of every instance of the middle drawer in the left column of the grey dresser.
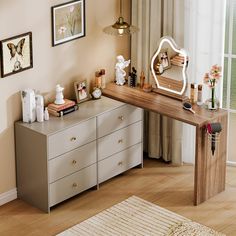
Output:
<path fill-rule="evenodd" d="M 49 183 L 96 163 L 96 142 L 51 159 L 48 164 Z"/>

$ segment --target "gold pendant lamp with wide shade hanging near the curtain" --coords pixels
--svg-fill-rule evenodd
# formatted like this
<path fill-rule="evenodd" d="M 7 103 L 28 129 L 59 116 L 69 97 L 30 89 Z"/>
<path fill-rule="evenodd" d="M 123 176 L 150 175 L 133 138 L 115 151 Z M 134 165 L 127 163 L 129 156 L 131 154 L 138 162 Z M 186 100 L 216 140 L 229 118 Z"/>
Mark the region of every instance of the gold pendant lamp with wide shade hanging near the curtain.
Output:
<path fill-rule="evenodd" d="M 115 24 L 107 26 L 103 29 L 103 32 L 106 34 L 114 35 L 114 36 L 123 36 L 133 34 L 139 31 L 136 26 L 129 25 L 125 22 L 124 18 L 122 17 L 122 0 L 120 0 L 120 17 L 115 22 Z"/>

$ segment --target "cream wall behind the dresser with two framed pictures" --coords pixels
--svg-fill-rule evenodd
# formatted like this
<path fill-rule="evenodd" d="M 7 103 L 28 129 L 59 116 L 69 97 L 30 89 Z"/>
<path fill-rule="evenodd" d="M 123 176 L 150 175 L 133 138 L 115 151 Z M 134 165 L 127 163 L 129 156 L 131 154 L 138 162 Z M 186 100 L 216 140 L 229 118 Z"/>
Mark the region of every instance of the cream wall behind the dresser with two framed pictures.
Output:
<path fill-rule="evenodd" d="M 21 118 L 19 91 L 34 88 L 52 98 L 55 85 L 65 87 L 65 96 L 73 95 L 73 81 L 106 69 L 107 79 L 114 77 L 115 56 L 130 56 L 129 37 L 113 37 L 102 28 L 119 15 L 118 0 L 86 0 L 86 37 L 51 47 L 51 6 L 66 0 L 1 0 L 0 40 L 33 33 L 33 69 L 0 79 L 0 194 L 16 187 L 14 121 Z M 127 19 L 130 1 L 124 1 Z M 29 166 L 30 168 L 30 166 Z"/>

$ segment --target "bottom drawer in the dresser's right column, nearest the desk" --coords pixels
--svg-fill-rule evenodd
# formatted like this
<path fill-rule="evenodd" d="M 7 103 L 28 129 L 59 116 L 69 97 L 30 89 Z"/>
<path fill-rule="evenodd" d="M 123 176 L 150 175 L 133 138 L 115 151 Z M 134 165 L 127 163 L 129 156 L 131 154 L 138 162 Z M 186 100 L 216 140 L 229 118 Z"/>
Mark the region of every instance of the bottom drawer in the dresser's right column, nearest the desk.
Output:
<path fill-rule="evenodd" d="M 142 163 L 142 143 L 98 162 L 98 181 L 104 182 Z"/>

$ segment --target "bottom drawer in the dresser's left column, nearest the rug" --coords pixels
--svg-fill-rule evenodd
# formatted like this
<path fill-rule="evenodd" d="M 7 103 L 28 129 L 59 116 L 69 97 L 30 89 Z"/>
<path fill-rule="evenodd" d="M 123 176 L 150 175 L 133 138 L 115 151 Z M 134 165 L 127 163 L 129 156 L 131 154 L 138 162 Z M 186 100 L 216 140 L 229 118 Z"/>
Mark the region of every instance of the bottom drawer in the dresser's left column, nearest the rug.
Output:
<path fill-rule="evenodd" d="M 50 207 L 97 184 L 96 164 L 50 184 Z"/>

